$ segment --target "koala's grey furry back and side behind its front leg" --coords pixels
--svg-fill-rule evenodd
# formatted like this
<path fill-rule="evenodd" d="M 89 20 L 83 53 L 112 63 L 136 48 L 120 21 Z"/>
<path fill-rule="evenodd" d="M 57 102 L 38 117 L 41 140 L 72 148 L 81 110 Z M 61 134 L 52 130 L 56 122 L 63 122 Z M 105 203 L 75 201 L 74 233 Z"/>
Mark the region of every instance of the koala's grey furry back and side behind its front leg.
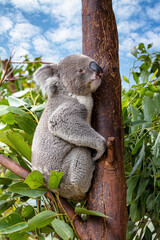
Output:
<path fill-rule="evenodd" d="M 39 170 L 48 178 L 50 170 L 61 171 L 62 161 L 73 145 L 54 136 L 48 129 L 48 119 L 63 104 L 69 102 L 66 96 L 54 96 L 47 101 L 39 124 L 34 133 L 32 144 L 32 169 Z"/>

